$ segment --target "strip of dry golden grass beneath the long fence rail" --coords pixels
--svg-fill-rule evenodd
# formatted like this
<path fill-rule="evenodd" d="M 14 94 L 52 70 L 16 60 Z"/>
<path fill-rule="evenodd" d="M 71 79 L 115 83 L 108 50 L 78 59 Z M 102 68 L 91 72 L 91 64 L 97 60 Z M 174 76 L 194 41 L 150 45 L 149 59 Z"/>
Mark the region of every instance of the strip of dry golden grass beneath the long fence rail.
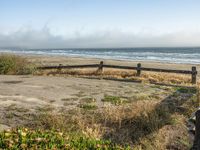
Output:
<path fill-rule="evenodd" d="M 75 76 L 75 77 L 100 77 L 100 78 L 116 78 L 130 79 L 133 81 L 164 83 L 164 84 L 181 84 L 190 85 L 191 76 L 175 73 L 155 73 L 142 72 L 141 76 L 136 75 L 136 71 L 122 69 L 104 69 L 100 73 L 96 69 L 68 69 L 68 70 L 43 70 L 38 72 L 38 75 L 53 75 L 53 76 Z"/>

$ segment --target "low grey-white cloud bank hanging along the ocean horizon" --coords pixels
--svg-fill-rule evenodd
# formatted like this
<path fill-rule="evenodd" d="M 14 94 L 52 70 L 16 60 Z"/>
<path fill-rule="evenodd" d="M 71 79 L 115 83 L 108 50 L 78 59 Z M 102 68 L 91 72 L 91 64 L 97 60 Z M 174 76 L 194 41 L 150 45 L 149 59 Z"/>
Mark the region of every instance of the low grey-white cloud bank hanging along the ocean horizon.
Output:
<path fill-rule="evenodd" d="M 22 48 L 98 48 L 98 47 L 159 47 L 200 46 L 200 32 L 179 31 L 171 33 L 128 32 L 101 30 L 91 33 L 75 31 L 74 34 L 55 35 L 45 26 L 40 30 L 23 27 L 3 34 L 0 47 Z"/>

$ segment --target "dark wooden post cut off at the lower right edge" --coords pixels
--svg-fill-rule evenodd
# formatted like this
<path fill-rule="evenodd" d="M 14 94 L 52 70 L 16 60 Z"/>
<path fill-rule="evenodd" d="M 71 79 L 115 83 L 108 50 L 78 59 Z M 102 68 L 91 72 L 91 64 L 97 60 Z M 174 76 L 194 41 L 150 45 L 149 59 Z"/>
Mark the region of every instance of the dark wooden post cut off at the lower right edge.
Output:
<path fill-rule="evenodd" d="M 195 138 L 191 150 L 200 150 L 200 110 L 197 110 L 195 115 L 196 115 Z"/>

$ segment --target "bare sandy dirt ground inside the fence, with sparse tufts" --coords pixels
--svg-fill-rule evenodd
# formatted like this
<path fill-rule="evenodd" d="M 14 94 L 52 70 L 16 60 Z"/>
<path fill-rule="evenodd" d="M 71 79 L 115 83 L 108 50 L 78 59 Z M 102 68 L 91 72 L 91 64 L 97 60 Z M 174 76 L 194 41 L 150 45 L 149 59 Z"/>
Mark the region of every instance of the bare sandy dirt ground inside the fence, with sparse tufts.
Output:
<path fill-rule="evenodd" d="M 162 95 L 159 95 L 162 93 Z M 84 99 L 94 99 L 98 108 L 104 106 L 105 95 L 124 99 L 142 99 L 159 95 L 166 97 L 165 88 L 134 82 L 50 76 L 0 76 L 1 128 L 23 124 L 30 114 L 42 109 L 53 111 L 76 108 Z"/>

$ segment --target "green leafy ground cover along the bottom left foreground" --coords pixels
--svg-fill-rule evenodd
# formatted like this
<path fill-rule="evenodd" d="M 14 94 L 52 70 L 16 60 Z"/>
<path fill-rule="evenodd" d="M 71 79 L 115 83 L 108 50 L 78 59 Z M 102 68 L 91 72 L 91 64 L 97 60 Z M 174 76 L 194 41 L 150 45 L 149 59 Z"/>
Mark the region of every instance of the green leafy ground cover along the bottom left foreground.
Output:
<path fill-rule="evenodd" d="M 106 140 L 69 137 L 62 132 L 16 128 L 0 133 L 2 149 L 120 149 Z M 126 149 L 130 149 L 127 147 Z"/>

